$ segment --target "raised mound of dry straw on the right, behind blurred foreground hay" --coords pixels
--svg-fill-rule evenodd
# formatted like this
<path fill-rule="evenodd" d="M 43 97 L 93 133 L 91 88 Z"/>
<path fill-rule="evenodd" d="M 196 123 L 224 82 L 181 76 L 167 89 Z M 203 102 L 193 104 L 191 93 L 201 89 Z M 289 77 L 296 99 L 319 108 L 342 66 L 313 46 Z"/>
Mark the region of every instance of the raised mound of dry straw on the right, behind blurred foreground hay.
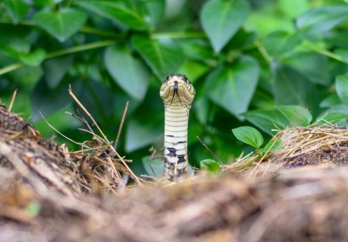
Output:
<path fill-rule="evenodd" d="M 240 157 L 236 163 L 224 166 L 225 171 L 243 176 L 263 176 L 280 169 L 322 164 L 345 165 L 348 163 L 348 130 L 345 127 L 312 126 L 292 128 L 278 132 L 273 141 L 280 139 L 283 148 Z"/>

